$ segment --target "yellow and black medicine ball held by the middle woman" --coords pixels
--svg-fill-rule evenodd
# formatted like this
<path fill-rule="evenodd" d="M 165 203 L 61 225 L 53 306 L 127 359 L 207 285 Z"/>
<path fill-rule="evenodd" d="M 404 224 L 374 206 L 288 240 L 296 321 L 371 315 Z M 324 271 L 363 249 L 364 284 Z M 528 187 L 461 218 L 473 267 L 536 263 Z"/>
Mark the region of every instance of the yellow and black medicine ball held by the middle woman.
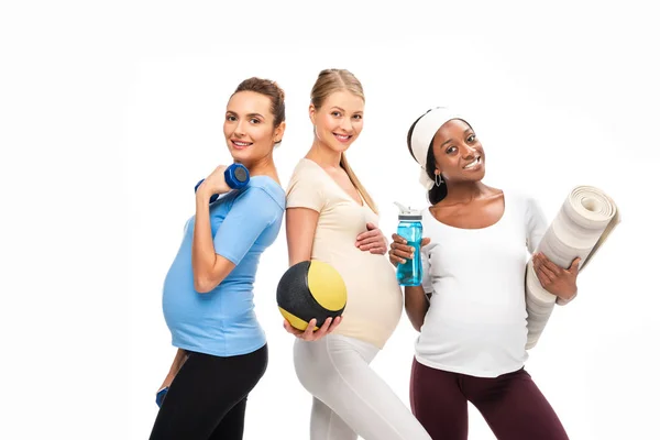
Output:
<path fill-rule="evenodd" d="M 298 330 L 316 318 L 321 326 L 338 317 L 346 306 L 346 286 L 334 267 L 320 261 L 290 266 L 277 284 L 279 312 Z M 318 327 L 317 327 L 318 328 Z"/>

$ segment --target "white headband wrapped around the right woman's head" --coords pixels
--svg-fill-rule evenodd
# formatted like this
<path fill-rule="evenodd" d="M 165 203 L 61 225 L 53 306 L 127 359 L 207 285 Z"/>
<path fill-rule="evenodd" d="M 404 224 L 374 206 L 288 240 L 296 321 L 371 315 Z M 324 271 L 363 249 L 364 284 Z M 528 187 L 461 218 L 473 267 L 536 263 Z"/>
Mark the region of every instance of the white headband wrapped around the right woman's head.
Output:
<path fill-rule="evenodd" d="M 430 110 L 428 113 L 422 116 L 413 130 L 410 136 L 410 148 L 415 161 L 421 166 L 419 174 L 419 183 L 428 190 L 435 185 L 435 182 L 426 173 L 426 160 L 429 154 L 429 147 L 433 141 L 433 136 L 440 130 L 440 128 L 452 119 L 461 119 L 465 121 L 463 117 L 446 107 L 438 107 Z"/>

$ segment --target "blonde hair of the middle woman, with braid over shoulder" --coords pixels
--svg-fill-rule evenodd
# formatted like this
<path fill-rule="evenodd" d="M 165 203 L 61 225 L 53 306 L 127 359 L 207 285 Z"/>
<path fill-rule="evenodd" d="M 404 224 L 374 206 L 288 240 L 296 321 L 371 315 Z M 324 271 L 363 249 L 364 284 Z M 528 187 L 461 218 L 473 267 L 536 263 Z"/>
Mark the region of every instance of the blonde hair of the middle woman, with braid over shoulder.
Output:
<path fill-rule="evenodd" d="M 311 88 L 311 105 L 318 109 L 323 105 L 323 102 L 330 95 L 332 95 L 336 91 L 343 90 L 355 95 L 364 101 L 364 90 L 362 89 L 362 84 L 349 70 L 321 70 L 319 77 L 314 84 L 314 87 Z M 349 179 L 351 179 L 351 184 L 353 184 L 355 189 L 358 189 L 358 193 L 360 193 L 366 205 L 372 209 L 372 211 L 378 213 L 376 204 L 374 204 L 374 200 L 371 198 L 366 189 L 358 179 L 358 176 L 353 172 L 353 168 L 351 168 L 351 166 L 349 165 L 345 153 L 341 153 L 341 160 L 339 162 L 339 165 L 344 169 L 344 172 L 346 172 Z"/>

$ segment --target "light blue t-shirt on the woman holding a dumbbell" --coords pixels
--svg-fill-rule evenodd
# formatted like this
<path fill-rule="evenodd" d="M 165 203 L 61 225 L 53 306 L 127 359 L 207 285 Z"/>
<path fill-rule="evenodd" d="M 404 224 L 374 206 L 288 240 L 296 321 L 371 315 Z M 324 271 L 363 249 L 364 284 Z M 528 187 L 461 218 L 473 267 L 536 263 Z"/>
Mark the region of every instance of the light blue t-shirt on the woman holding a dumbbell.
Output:
<path fill-rule="evenodd" d="M 172 343 L 184 350 L 233 356 L 266 343 L 254 314 L 253 284 L 258 258 L 277 238 L 285 193 L 275 180 L 254 176 L 246 187 L 224 194 L 210 205 L 216 253 L 237 266 L 213 290 L 199 294 L 193 280 L 193 232 L 188 220 L 184 241 L 163 287 L 163 314 Z"/>

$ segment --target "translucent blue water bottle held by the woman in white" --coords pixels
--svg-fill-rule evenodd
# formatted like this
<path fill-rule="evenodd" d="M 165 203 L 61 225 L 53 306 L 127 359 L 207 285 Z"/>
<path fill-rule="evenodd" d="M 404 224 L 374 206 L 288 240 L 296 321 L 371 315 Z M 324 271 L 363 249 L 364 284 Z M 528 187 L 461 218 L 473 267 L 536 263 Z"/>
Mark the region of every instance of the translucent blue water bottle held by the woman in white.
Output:
<path fill-rule="evenodd" d="M 396 233 L 403 237 L 409 246 L 415 248 L 411 260 L 399 263 L 396 267 L 396 278 L 402 286 L 419 286 L 421 284 L 421 212 L 406 208 L 396 202 L 399 207 L 399 224 Z"/>

